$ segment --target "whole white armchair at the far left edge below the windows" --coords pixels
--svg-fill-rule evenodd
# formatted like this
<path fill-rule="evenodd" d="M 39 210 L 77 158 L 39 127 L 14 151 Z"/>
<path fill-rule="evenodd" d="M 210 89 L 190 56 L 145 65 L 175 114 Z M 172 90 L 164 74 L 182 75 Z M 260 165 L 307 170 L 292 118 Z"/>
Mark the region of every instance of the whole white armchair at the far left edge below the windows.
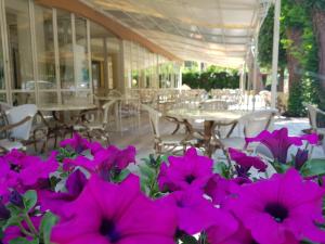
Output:
<path fill-rule="evenodd" d="M 8 138 L 0 140 L 2 150 L 5 152 L 13 149 L 26 150 L 36 113 L 35 104 L 24 104 L 5 111 L 8 126 L 1 127 L 0 131 L 9 131 L 9 133 Z"/>

